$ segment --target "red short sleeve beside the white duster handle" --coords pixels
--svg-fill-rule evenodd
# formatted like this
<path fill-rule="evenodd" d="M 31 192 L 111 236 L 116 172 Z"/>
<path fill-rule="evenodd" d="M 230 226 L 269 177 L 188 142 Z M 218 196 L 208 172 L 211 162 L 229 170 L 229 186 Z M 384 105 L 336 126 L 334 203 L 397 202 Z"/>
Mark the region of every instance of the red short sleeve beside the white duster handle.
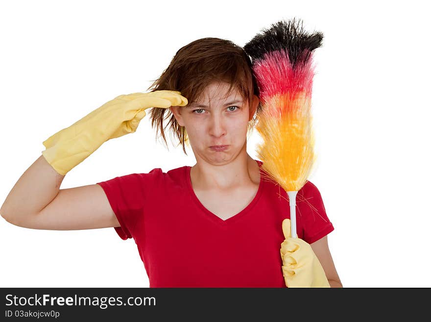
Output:
<path fill-rule="evenodd" d="M 330 222 L 322 196 L 317 187 L 310 181 L 307 181 L 301 189 L 301 197 L 297 197 L 297 206 L 300 206 L 300 216 L 303 225 L 304 241 L 309 244 L 318 241 L 334 230 Z"/>

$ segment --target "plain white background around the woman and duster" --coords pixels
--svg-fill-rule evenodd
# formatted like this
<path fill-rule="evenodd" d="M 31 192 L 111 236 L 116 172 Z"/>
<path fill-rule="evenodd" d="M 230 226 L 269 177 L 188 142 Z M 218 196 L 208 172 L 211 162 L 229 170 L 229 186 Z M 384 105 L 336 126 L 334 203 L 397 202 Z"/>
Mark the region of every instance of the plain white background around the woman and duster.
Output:
<path fill-rule="evenodd" d="M 298 17 L 315 51 L 318 162 L 310 176 L 335 231 L 345 287 L 431 287 L 430 41 L 422 1 L 8 1 L 0 5 L 0 202 L 42 142 L 120 94 L 145 91 L 203 37 L 243 46 Z M 256 158 L 254 133 L 248 151 Z M 68 173 L 61 188 L 193 165 L 145 118 Z M 34 182 L 37 185 L 37 182 Z M 61 214 L 59 214 L 61 216 Z M 173 248 L 174 249 L 174 248 Z M 48 231 L 0 218 L 1 287 L 147 287 L 114 228 Z"/>

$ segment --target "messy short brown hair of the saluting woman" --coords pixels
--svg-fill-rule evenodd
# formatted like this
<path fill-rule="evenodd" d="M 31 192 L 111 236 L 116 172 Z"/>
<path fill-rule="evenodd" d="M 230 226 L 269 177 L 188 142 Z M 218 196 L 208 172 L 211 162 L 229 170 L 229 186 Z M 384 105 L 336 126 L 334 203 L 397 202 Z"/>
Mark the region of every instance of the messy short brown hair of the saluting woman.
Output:
<path fill-rule="evenodd" d="M 242 99 L 249 103 L 253 101 L 253 95 L 259 97 L 249 56 L 233 42 L 220 38 L 202 38 L 182 47 L 176 52 L 168 68 L 154 80 L 148 90 L 179 91 L 190 104 L 199 100 L 204 89 L 214 81 L 230 84 L 228 93 L 234 88 L 238 89 Z M 254 127 L 261 110 L 262 106 L 259 103 L 255 116 L 249 122 L 248 131 Z M 187 155 L 186 129 L 177 123 L 170 109 L 152 108 L 150 118 L 151 126 L 156 126 L 156 136 L 160 131 L 167 144 L 165 130 L 169 128 Z M 165 120 L 168 120 L 168 124 L 164 126 Z"/>

